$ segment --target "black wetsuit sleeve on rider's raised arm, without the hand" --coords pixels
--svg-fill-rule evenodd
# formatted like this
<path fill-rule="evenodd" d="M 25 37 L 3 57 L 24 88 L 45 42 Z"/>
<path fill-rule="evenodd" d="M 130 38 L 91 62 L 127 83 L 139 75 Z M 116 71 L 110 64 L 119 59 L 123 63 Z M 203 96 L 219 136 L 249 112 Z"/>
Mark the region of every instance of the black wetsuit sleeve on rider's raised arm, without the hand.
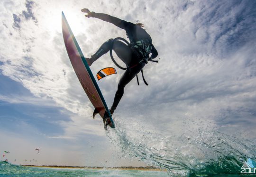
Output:
<path fill-rule="evenodd" d="M 91 12 L 91 17 L 99 18 L 99 19 L 101 19 L 105 22 L 109 22 L 111 24 L 114 24 L 114 25 L 116 25 L 116 26 L 118 26 L 119 28 L 122 28 L 122 29 L 126 29 L 126 27 L 128 25 L 127 21 L 121 20 L 117 17 L 110 16 L 108 14 Z"/>

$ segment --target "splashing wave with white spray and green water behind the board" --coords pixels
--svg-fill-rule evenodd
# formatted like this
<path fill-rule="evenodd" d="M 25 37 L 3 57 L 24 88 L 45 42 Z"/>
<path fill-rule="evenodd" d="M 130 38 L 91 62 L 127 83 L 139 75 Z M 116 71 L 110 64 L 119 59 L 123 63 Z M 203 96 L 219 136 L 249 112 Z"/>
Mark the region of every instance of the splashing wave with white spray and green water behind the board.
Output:
<path fill-rule="evenodd" d="M 256 157 L 255 143 L 215 129 L 188 129 L 180 135 L 163 136 L 141 126 L 143 122 L 115 123 L 116 128 L 107 135 L 124 157 L 137 157 L 148 165 L 167 169 L 169 176 L 239 174 L 243 162 Z"/>

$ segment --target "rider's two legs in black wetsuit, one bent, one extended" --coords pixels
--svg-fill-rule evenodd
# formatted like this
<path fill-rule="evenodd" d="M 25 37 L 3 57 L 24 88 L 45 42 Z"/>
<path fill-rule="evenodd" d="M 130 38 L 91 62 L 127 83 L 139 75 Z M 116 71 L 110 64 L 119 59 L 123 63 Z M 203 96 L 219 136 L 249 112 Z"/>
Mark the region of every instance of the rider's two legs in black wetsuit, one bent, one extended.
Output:
<path fill-rule="evenodd" d="M 92 61 L 90 63 L 89 60 L 89 66 L 91 66 L 93 61 L 99 59 L 102 55 L 110 51 L 112 41 L 113 39 L 109 39 L 101 45 L 98 51 L 96 51 L 96 53 L 91 56 L 90 60 Z M 115 94 L 114 102 L 110 109 L 111 114 L 113 114 L 114 110 L 117 108 L 119 101 L 124 94 L 125 86 L 141 71 L 141 69 L 146 64 L 144 62 L 138 64 L 138 56 L 129 48 L 128 45 L 123 42 L 115 41 L 113 43 L 112 50 L 115 51 L 119 59 L 121 59 L 126 64 L 127 69 L 119 81 L 118 90 Z"/>

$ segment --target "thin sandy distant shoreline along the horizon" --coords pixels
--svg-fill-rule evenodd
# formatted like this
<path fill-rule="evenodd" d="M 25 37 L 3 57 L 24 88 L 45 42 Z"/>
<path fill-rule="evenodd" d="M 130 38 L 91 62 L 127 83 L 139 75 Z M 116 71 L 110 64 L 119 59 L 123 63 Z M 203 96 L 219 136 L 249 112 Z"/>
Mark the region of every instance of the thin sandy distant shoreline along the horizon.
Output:
<path fill-rule="evenodd" d="M 148 171 L 166 171 L 166 169 L 158 169 L 155 167 L 80 167 L 80 166 L 58 166 L 58 165 L 22 165 L 24 167 L 37 168 L 63 168 L 63 169 L 121 169 L 121 170 L 148 170 Z"/>

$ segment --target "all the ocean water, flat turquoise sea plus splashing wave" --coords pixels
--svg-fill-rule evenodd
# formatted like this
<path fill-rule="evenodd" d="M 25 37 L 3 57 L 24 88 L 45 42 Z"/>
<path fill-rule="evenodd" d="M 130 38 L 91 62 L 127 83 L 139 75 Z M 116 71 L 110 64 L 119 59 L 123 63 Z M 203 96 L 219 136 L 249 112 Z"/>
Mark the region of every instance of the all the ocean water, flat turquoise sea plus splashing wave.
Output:
<path fill-rule="evenodd" d="M 32 168 L 0 162 L 0 177 L 241 177 L 243 163 L 256 160 L 255 141 L 239 132 L 235 137 L 190 127 L 166 135 L 141 122 L 116 119 L 115 123 L 106 135 L 119 146 L 123 158 L 135 157 L 163 171 Z"/>

